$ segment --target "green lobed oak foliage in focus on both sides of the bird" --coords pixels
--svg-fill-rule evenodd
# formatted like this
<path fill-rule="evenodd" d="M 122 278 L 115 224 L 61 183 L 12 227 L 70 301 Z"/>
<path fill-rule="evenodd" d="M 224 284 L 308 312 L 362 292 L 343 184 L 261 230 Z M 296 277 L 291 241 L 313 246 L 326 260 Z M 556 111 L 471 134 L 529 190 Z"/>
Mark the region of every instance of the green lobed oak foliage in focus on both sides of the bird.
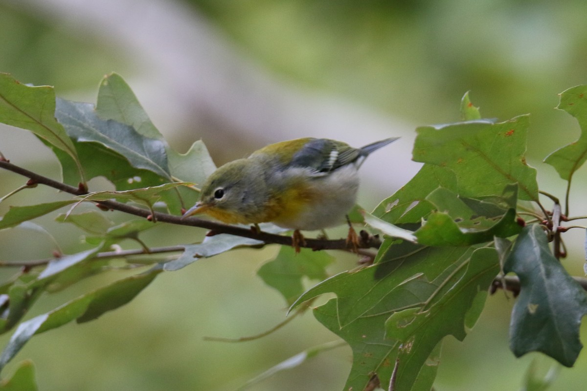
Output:
<path fill-rule="evenodd" d="M 579 86 L 561 95 L 559 108 L 579 120 L 582 135 L 546 159 L 569 182 L 568 191 L 573 173 L 587 158 L 586 92 L 587 86 Z M 258 271 L 291 311 L 305 310 L 302 303 L 318 295 L 336 294 L 313 312 L 352 348 L 345 390 L 430 390 L 444 336 L 462 340 L 481 314 L 496 276 L 509 272 L 519 278 L 511 318 L 515 355 L 541 351 L 572 366 L 582 348 L 579 325 L 587 313 L 587 295 L 558 260 L 564 254 L 561 222 L 573 217 L 568 216 L 568 205 L 562 213 L 553 196 L 551 211 L 541 204 L 536 171 L 524 158 L 528 116 L 502 123 L 483 120 L 466 94 L 461 114 L 460 123 L 417 129 L 413 159 L 423 163 L 420 171 L 373 213 L 365 213 L 367 225 L 384 234 L 372 264 L 329 277 L 326 267 L 332 254 L 303 249 L 296 255 L 282 246 Z M 96 319 L 132 300 L 163 271 L 179 270 L 237 246 L 264 244 L 251 234 L 221 233 L 202 243 L 170 243 L 164 249 L 149 248 L 139 239 L 144 230 L 165 224 L 161 217 L 173 222 L 171 216 L 193 205 L 198 198 L 193 183 L 203 182 L 215 167 L 199 141 L 184 155 L 170 148 L 117 74 L 103 79 L 96 106 L 62 100 L 51 87 L 25 86 L 0 74 L 0 121 L 34 132 L 62 165 L 62 182 L 41 181 L 0 155 L 1 168 L 31 178 L 20 189 L 44 183 L 71 193 L 68 199 L 11 207 L 0 229 L 30 224 L 35 217 L 69 207 L 57 220 L 79 227 L 89 247 L 31 263 L 0 286 L 0 332 L 18 325 L 0 355 L 0 369 L 33 335 L 73 320 Z M 116 190 L 88 192 L 87 180 L 96 176 L 112 182 Z M 79 206 L 88 201 L 103 209 L 138 205 L 120 210 L 143 217 L 116 224 L 94 207 Z M 271 225 L 261 228 L 279 232 Z M 215 230 L 222 232 L 222 227 Z M 140 248 L 109 251 L 127 239 Z M 114 258 L 130 265 L 137 254 L 170 251 L 180 254 L 172 260 L 154 257 L 146 271 L 22 321 L 43 293 L 100 273 Z M 321 282 L 304 291 L 304 278 Z M 268 373 L 332 347 L 302 352 Z M 31 376 L 31 364 L 25 362 L 6 387 L 22 382 L 28 387 L 24 389 L 34 389 Z"/>

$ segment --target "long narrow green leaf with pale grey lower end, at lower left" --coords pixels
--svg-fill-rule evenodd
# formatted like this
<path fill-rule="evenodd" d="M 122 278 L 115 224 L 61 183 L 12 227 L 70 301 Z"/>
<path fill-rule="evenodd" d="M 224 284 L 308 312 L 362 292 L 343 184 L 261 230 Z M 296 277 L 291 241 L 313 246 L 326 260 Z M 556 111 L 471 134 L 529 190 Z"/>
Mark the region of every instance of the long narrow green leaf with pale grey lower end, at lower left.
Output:
<path fill-rule="evenodd" d="M 124 278 L 78 297 L 53 311 L 22 322 L 0 355 L 0 369 L 4 368 L 33 335 L 58 328 L 74 319 L 77 322 L 87 322 L 106 311 L 121 307 L 146 288 L 161 271 L 161 268 L 152 268 L 145 273 Z"/>

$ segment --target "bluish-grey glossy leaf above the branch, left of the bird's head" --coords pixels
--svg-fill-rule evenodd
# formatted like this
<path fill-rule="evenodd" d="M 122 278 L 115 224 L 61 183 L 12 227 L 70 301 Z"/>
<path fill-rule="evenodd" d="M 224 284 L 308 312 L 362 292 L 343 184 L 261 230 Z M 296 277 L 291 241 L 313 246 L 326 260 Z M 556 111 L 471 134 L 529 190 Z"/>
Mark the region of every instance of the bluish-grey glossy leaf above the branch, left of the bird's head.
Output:
<path fill-rule="evenodd" d="M 55 117 L 77 142 L 97 142 L 126 158 L 135 168 L 171 179 L 166 144 L 147 138 L 126 124 L 102 120 L 90 103 L 57 99 Z"/>

